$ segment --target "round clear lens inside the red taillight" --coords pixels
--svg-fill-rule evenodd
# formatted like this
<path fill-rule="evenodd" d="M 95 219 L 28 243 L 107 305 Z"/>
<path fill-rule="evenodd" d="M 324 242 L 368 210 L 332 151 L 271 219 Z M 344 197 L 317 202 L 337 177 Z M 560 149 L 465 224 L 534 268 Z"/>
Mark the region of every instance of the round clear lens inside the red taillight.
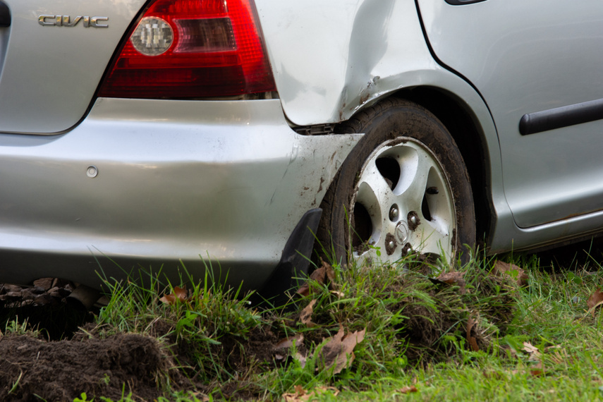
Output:
<path fill-rule="evenodd" d="M 130 37 L 134 49 L 145 56 L 158 56 L 173 43 L 173 30 L 162 18 L 146 17 L 140 20 L 138 27 Z"/>

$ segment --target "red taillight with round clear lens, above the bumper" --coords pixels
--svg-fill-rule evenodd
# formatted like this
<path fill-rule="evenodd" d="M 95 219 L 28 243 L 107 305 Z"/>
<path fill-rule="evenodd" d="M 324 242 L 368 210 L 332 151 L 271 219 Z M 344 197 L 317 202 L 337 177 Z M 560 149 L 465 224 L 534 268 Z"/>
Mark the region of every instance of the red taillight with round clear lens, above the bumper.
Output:
<path fill-rule="evenodd" d="M 156 0 L 100 97 L 200 98 L 276 90 L 252 0 Z"/>

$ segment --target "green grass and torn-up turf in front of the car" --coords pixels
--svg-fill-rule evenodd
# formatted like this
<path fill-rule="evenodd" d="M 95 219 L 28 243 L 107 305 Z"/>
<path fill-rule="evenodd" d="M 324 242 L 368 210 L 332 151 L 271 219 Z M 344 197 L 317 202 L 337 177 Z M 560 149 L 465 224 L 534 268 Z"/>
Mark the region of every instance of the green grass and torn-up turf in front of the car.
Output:
<path fill-rule="evenodd" d="M 309 281 L 303 295 L 293 289 L 288 305 L 267 310 L 237 289 L 208 285 L 210 278 L 185 278 L 186 291 L 113 283 L 90 331 L 159 339 L 173 358 L 157 374 L 159 401 L 603 398 L 603 317 L 587 307 L 603 281 L 597 258 L 569 269 L 544 267 L 535 256 L 506 261 L 516 267 L 498 274 L 497 260 L 483 256 L 431 274 L 408 271 L 411 260 L 332 271 L 325 264 L 330 281 Z M 518 267 L 528 286 L 518 285 Z M 434 280 L 443 273 L 455 280 Z M 341 330 L 363 339 L 353 361 L 352 349 L 339 353 L 338 366 Z M 23 320 L 6 331 L 23 333 Z M 178 376 L 188 386 L 176 386 Z M 121 398 L 135 400 L 128 392 Z"/>

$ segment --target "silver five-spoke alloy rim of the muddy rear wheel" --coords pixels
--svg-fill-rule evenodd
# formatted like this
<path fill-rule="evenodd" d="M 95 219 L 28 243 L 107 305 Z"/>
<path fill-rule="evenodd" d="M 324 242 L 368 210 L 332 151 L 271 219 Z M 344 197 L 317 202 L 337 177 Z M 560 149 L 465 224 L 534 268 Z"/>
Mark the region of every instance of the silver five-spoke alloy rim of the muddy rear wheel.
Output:
<path fill-rule="evenodd" d="M 394 263 L 456 249 L 453 194 L 434 154 L 414 138 L 383 142 L 358 173 L 351 200 L 353 257 Z M 379 250 L 379 252 L 377 252 Z"/>

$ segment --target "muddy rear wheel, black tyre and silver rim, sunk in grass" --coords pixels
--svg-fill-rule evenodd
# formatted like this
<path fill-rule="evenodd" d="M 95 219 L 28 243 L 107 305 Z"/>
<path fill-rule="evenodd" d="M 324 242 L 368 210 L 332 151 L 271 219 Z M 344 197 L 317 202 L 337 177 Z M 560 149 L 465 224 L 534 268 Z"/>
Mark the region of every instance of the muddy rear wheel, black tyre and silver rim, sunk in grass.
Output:
<path fill-rule="evenodd" d="M 389 98 L 339 130 L 365 136 L 322 202 L 322 244 L 343 262 L 393 263 L 411 253 L 468 260 L 460 251 L 475 243 L 473 196 L 461 152 L 441 122 Z"/>

